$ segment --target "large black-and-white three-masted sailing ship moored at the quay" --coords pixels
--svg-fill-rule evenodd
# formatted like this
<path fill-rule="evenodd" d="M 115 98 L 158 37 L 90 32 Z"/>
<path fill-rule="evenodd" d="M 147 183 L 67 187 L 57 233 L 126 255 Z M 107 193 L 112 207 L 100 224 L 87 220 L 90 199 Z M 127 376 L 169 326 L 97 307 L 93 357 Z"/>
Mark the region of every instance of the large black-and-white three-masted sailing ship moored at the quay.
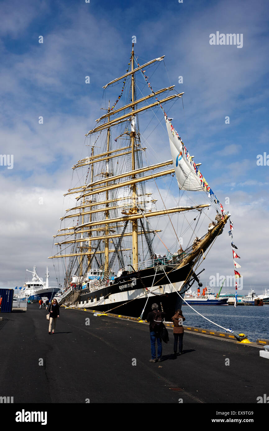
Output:
<path fill-rule="evenodd" d="M 65 295 L 76 290 L 78 307 L 138 317 L 158 303 L 174 314 L 186 290 L 195 282 L 202 286 L 199 265 L 230 217 L 165 112 L 184 93 L 149 82 L 150 68 L 163 59 L 140 66 L 132 48 L 126 72 L 103 87 L 106 94 L 120 83 L 120 94 L 114 103 L 105 96 L 103 114 L 85 134 L 88 155 L 73 166 L 50 258 L 63 260 Z M 166 134 L 161 153 L 155 151 L 155 130 L 149 139 L 139 127 L 156 112 Z M 196 203 L 197 194 L 206 203 Z M 172 197 L 174 206 L 168 205 Z M 187 222 L 184 241 L 180 218 Z M 206 227 L 199 234 L 202 219 Z"/>

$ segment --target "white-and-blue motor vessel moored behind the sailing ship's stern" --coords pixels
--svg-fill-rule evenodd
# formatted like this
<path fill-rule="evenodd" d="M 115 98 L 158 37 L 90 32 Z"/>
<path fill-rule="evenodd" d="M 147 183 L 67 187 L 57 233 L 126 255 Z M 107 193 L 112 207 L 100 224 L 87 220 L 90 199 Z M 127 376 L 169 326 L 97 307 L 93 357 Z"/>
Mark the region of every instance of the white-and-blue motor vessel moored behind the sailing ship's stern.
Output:
<path fill-rule="evenodd" d="M 21 300 L 35 301 L 44 297 L 51 300 L 57 292 L 60 292 L 60 287 L 49 286 L 48 284 L 48 266 L 46 268 L 45 281 L 38 276 L 36 266 L 33 267 L 33 271 L 29 271 L 28 269 L 26 269 L 26 271 L 32 273 L 32 280 L 26 281 L 23 285 L 23 290 L 20 291 Z"/>

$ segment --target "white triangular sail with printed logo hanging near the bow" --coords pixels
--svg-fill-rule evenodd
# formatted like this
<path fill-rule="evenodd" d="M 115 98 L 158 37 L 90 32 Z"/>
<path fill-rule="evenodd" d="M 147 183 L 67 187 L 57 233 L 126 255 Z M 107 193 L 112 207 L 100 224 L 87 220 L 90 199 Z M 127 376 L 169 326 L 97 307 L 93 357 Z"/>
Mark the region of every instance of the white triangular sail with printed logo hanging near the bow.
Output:
<path fill-rule="evenodd" d="M 167 117 L 165 117 L 165 123 L 168 131 L 170 150 L 178 187 L 182 190 L 189 191 L 205 190 L 203 179 L 200 181 L 199 178 L 200 172 L 198 167 L 191 160 L 191 156 L 189 156 L 186 147 L 184 147 L 178 133 L 175 131 Z"/>

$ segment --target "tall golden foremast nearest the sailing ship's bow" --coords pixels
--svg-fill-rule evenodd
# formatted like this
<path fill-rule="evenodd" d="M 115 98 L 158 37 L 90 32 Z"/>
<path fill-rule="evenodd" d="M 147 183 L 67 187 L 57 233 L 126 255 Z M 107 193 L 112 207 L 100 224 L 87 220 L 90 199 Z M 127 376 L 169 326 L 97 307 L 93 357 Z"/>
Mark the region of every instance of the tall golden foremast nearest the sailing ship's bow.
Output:
<path fill-rule="evenodd" d="M 134 46 L 134 44 L 133 44 Z M 134 51 L 132 49 L 132 72 L 134 69 Z M 134 103 L 135 101 L 135 80 L 134 80 L 134 73 L 132 73 L 132 103 Z M 135 110 L 135 107 L 133 105 L 132 107 L 132 111 Z M 131 148 L 132 148 L 132 170 L 134 171 L 136 169 L 136 161 L 135 161 L 135 135 L 136 135 L 136 129 L 135 129 L 135 119 L 136 117 L 133 115 L 132 116 L 132 121 L 131 121 Z M 136 175 L 133 175 L 133 179 L 136 178 Z M 132 187 L 132 191 L 133 191 L 133 208 L 132 208 L 132 212 L 133 214 L 137 213 L 137 193 L 136 193 L 136 184 L 133 184 Z M 133 267 L 136 268 L 137 264 L 138 264 L 138 235 L 137 235 L 137 219 L 132 220 L 132 231 L 133 231 L 133 236 L 132 236 L 132 242 L 133 242 L 133 247 L 132 247 L 132 252 L 133 252 Z"/>

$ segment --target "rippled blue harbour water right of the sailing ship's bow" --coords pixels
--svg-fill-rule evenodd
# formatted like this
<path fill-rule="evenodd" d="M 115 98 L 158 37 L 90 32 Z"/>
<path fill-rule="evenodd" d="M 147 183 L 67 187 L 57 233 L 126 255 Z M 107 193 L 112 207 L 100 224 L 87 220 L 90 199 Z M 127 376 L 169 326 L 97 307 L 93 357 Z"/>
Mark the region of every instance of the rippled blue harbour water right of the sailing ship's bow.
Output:
<path fill-rule="evenodd" d="M 269 339 L 269 306 L 194 306 L 199 313 L 228 329 L 237 333 L 244 333 L 250 341 L 256 342 L 257 338 Z M 182 312 L 186 318 L 184 325 L 196 328 L 221 330 L 189 306 L 183 306 Z"/>

